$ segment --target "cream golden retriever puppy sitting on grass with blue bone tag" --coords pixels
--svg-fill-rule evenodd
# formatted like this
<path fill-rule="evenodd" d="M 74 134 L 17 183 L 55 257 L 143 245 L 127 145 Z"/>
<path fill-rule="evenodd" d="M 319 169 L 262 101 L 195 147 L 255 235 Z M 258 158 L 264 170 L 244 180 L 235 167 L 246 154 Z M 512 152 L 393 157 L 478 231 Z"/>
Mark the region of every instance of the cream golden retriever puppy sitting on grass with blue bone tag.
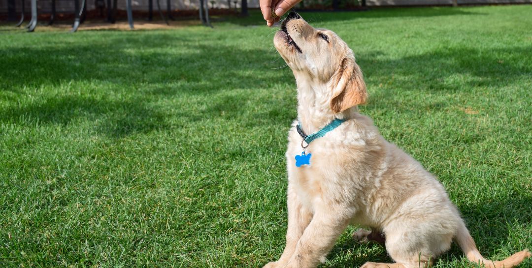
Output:
<path fill-rule="evenodd" d="M 510 268 L 530 256 L 523 250 L 492 262 L 480 255 L 438 180 L 358 113 L 368 93 L 353 51 L 334 32 L 314 29 L 292 12 L 274 44 L 296 78 L 298 116 L 286 152 L 286 247 L 264 267 L 315 267 L 348 224 L 371 228 L 354 237 L 384 241 L 395 261 L 364 268 L 428 267 L 452 240 L 469 261 L 486 267 Z M 337 119 L 340 124 L 331 127 Z M 320 129 L 326 133 L 302 141 Z"/>

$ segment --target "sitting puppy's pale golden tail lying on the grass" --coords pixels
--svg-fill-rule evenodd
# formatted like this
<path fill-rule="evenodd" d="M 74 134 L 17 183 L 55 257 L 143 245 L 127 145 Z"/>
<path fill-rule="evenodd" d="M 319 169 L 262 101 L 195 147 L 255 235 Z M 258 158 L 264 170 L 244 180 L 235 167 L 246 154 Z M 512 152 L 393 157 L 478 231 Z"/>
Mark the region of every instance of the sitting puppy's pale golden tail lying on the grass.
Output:
<path fill-rule="evenodd" d="M 465 253 L 468 260 L 470 262 L 479 264 L 480 267 L 512 268 L 523 262 L 525 258 L 530 257 L 530 252 L 525 249 L 521 252 L 513 254 L 511 257 L 507 258 L 504 261 L 493 262 L 490 260 L 486 260 L 482 255 L 480 255 L 480 252 L 478 252 L 477 245 L 475 245 L 475 241 L 473 241 L 473 238 L 469 234 L 469 231 L 465 227 L 465 224 L 463 222 L 460 222 L 458 231 L 454 236 L 454 241 L 460 246 L 460 248 L 462 248 L 462 251 Z"/>

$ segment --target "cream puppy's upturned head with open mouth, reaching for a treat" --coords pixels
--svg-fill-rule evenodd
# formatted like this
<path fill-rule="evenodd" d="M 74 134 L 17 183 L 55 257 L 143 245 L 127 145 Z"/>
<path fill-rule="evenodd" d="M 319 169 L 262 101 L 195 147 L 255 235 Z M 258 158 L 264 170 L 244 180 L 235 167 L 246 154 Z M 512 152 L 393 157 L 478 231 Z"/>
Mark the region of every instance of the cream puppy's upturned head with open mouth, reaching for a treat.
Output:
<path fill-rule="evenodd" d="M 330 109 L 339 113 L 368 98 L 360 67 L 353 50 L 336 33 L 314 29 L 295 12 L 282 21 L 273 44 L 300 79 L 326 85 L 319 92 L 330 100 Z"/>

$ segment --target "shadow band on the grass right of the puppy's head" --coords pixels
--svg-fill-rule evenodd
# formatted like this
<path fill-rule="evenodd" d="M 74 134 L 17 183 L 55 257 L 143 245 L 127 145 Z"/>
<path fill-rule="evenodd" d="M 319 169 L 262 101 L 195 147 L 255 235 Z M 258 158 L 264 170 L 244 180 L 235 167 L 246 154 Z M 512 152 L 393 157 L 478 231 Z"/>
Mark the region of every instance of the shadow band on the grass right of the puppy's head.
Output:
<path fill-rule="evenodd" d="M 358 55 L 364 74 L 383 77 L 381 82 L 393 79 L 401 82 L 400 90 L 418 88 L 430 92 L 462 90 L 459 83 L 445 81 L 452 76 L 465 77 L 472 87 L 500 87 L 512 84 L 532 72 L 530 62 L 523 58 L 532 53 L 532 47 L 504 49 L 450 48 L 430 54 L 403 57 L 396 60 L 378 59 L 378 51 Z M 394 78 L 400 75 L 405 78 Z M 388 80 L 388 81 L 386 81 Z"/>

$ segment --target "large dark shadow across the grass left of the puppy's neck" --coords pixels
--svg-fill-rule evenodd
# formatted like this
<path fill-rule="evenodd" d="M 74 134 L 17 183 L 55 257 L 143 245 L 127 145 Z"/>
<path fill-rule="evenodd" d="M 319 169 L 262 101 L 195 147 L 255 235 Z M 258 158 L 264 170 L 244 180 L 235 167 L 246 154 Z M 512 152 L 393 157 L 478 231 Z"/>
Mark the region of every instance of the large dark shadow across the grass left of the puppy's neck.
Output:
<path fill-rule="evenodd" d="M 10 68 L 0 69 L 4 91 L 0 91 L 0 98 L 14 101 L 27 94 L 28 88 L 39 91 L 43 86 L 61 92 L 45 93 L 44 98 L 28 105 L 9 106 L 0 121 L 66 125 L 77 118 L 98 119 L 102 122 L 98 132 L 119 136 L 175 128 L 185 122 L 241 115 L 253 93 L 232 99 L 231 94 L 202 97 L 223 90 L 268 88 L 286 76 L 285 70 L 271 71 L 267 66 L 266 49 L 195 44 L 196 39 L 165 34 L 149 36 L 116 38 L 102 44 L 5 49 L 0 65 Z M 179 44 L 184 51 L 130 53 L 131 44 L 144 49 Z M 85 89 L 78 93 L 79 87 Z M 175 107 L 173 111 L 156 104 L 187 98 L 193 99 L 190 107 Z M 254 116 L 268 119 L 287 115 L 265 109 Z M 176 117 L 178 120 L 170 123 L 169 118 Z"/>

